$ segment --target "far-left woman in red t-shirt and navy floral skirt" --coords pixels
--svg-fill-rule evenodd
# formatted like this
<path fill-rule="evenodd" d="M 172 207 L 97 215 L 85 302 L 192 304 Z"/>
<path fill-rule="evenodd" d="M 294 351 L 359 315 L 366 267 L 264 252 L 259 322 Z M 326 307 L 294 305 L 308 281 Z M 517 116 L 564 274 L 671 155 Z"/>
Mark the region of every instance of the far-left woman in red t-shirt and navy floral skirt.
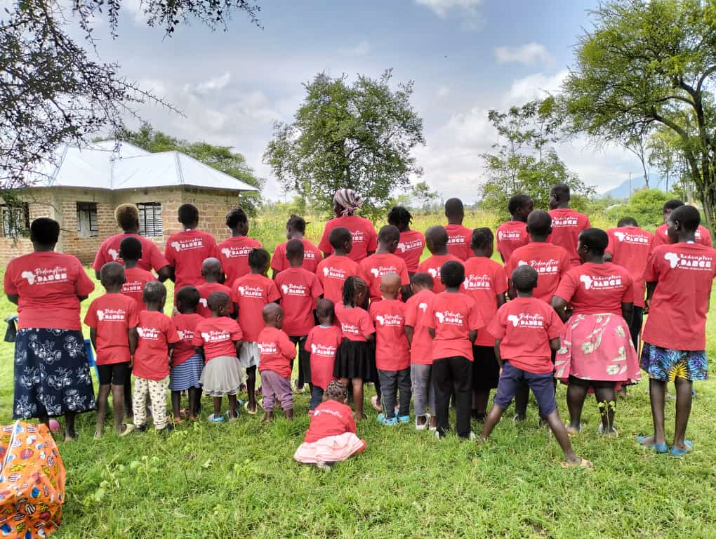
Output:
<path fill-rule="evenodd" d="M 34 252 L 13 258 L 4 288 L 17 305 L 13 419 L 64 415 L 65 441 L 74 440 L 74 417 L 95 409 L 95 392 L 79 322 L 79 302 L 95 283 L 79 260 L 55 253 L 59 224 L 39 218 L 30 225 Z"/>

